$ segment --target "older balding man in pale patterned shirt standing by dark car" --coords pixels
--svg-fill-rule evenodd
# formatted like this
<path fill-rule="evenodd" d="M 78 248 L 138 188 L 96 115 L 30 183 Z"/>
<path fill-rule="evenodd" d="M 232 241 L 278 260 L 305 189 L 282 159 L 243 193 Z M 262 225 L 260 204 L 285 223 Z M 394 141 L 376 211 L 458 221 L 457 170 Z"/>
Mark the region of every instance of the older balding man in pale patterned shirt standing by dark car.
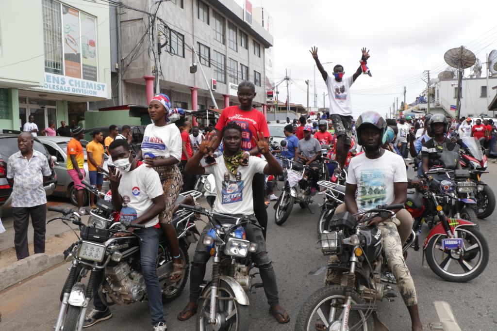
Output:
<path fill-rule="evenodd" d="M 47 196 L 43 184 L 52 171 L 47 158 L 33 149 L 33 135 L 22 132 L 17 137 L 19 151 L 7 161 L 7 179 L 12 185 L 12 216 L 17 261 L 27 258 L 29 215 L 34 229 L 34 253 L 45 253 Z"/>

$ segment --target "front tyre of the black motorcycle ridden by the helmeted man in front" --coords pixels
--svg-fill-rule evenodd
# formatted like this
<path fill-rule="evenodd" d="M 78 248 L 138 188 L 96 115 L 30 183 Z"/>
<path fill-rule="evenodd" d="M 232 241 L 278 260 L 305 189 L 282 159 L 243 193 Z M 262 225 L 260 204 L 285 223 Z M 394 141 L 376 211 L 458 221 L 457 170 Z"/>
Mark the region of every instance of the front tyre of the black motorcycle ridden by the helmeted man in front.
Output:
<path fill-rule="evenodd" d="M 320 307 L 324 305 L 326 301 L 332 299 L 338 299 L 343 301 L 344 298 L 345 298 L 345 287 L 339 285 L 325 286 L 320 288 L 313 294 L 311 294 L 311 296 L 307 299 L 307 301 L 304 303 L 302 308 L 300 308 L 299 314 L 297 315 L 297 320 L 295 322 L 295 331 L 315 331 L 316 316 L 314 315 L 318 314 L 317 313 L 318 309 L 320 309 Z M 359 294 L 357 294 L 354 291 L 352 292 L 352 304 L 364 305 L 365 301 Z M 327 314 L 326 311 L 322 313 Z M 371 315 L 369 315 L 365 323 L 362 324 L 359 328 L 354 326 L 357 323 L 362 323 L 361 318 L 363 319 L 367 315 L 368 312 L 366 311 L 358 311 L 358 310 L 350 311 L 349 314 L 350 330 L 374 331 L 373 318 L 371 317 Z M 335 316 L 340 316 L 338 311 L 335 313 Z M 354 318 L 352 319 L 352 317 Z"/>

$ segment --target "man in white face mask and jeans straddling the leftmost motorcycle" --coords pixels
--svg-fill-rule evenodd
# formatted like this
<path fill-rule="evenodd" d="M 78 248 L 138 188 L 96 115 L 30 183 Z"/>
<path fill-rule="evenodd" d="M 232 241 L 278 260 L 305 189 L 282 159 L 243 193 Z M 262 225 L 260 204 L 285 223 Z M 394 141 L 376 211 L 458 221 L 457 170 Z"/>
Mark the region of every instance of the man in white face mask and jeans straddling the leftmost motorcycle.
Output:
<path fill-rule="evenodd" d="M 127 208 L 136 210 L 136 218 L 132 223 L 144 224 L 144 229 L 128 228 L 140 236 L 140 265 L 143 279 L 147 288 L 150 317 L 154 331 L 166 331 L 164 306 L 162 303 L 161 284 L 157 276 L 157 251 L 162 230 L 159 226 L 159 214 L 166 209 L 164 190 L 162 189 L 159 174 L 152 168 L 138 160 L 133 160 L 130 146 L 126 139 L 116 139 L 108 146 L 112 157 L 114 172 L 110 172 L 110 188 L 112 191 L 112 206 L 117 212 L 126 202 Z M 125 201 L 123 197 L 127 197 Z M 129 215 L 128 215 L 129 216 Z M 128 232 L 118 232 L 116 237 L 131 235 Z M 83 328 L 112 317 L 110 309 L 106 307 L 97 293 L 100 279 L 95 279 L 93 286 L 94 309 L 86 315 Z"/>

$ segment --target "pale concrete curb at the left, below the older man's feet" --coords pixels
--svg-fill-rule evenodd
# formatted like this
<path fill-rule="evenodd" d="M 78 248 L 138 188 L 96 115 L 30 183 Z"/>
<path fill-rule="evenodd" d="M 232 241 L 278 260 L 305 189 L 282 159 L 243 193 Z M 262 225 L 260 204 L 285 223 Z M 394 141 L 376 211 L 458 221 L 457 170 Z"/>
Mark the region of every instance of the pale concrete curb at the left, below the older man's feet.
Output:
<path fill-rule="evenodd" d="M 34 254 L 0 268 L 0 291 L 63 261 L 63 254 Z"/>

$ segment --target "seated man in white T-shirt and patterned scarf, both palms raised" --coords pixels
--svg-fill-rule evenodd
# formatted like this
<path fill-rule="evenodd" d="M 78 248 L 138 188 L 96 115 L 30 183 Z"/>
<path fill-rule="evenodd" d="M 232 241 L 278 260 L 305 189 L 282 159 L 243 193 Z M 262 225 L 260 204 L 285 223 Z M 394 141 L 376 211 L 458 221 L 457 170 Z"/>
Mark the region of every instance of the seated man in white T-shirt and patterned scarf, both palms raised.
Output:
<path fill-rule="evenodd" d="M 252 179 L 254 174 L 263 173 L 264 175 L 278 176 L 283 173 L 281 164 L 269 151 L 267 144 L 268 138 L 264 138 L 263 132 L 257 132 L 258 140 L 252 137 L 256 143 L 256 148 L 260 154 L 264 155 L 266 161 L 256 156 L 250 156 L 248 165 L 241 166 L 244 151 L 240 148 L 242 144 L 243 129 L 235 122 L 229 122 L 222 130 L 224 153 L 218 158 L 218 163 L 215 165 L 203 168 L 200 165 L 200 160 L 205 154 L 211 152 L 212 145 L 217 137 L 210 137 L 199 146 L 199 151 L 193 155 L 185 166 L 185 171 L 190 174 L 203 175 L 205 173 L 213 174 L 216 178 L 216 191 L 218 199 L 214 203 L 213 210 L 217 213 L 228 215 L 251 215 L 253 214 L 252 201 Z M 233 184 L 231 184 L 231 192 L 223 192 L 222 181 L 225 173 L 229 173 Z M 240 173 L 238 179 L 237 175 Z M 239 182 L 241 184 L 236 184 Z M 231 182 L 230 182 L 231 183 Z M 231 219 L 221 221 L 232 222 Z M 276 275 L 267 254 L 266 243 L 262 236 L 262 231 L 259 227 L 253 224 L 248 224 L 245 227 L 247 240 L 258 244 L 257 251 L 252 253 L 253 262 L 258 266 L 260 278 L 264 287 L 264 292 L 269 304 L 269 313 L 274 316 L 278 323 L 290 322 L 290 316 L 279 304 L 278 286 L 276 284 Z M 204 228 L 202 235 L 195 249 L 195 255 L 191 266 L 190 280 L 190 302 L 178 314 L 178 320 L 186 321 L 197 312 L 197 300 L 201 294 L 202 281 L 205 275 L 205 265 L 209 261 L 211 255 L 203 245 L 203 238 L 207 234 L 208 227 Z"/>

